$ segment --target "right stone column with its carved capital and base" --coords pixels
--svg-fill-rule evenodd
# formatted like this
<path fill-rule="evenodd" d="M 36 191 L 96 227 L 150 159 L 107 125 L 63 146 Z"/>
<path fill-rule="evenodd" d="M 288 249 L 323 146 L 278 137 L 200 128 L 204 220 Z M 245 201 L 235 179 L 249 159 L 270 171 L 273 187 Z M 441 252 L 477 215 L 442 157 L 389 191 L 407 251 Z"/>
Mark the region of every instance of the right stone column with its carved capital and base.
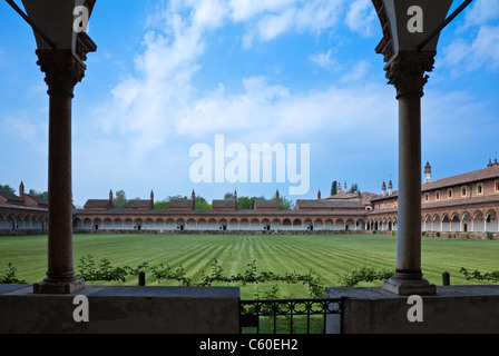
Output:
<path fill-rule="evenodd" d="M 399 100 L 399 228 L 397 270 L 383 288 L 398 295 L 432 295 L 421 273 L 421 97 L 434 52 L 399 52 L 385 67 Z"/>

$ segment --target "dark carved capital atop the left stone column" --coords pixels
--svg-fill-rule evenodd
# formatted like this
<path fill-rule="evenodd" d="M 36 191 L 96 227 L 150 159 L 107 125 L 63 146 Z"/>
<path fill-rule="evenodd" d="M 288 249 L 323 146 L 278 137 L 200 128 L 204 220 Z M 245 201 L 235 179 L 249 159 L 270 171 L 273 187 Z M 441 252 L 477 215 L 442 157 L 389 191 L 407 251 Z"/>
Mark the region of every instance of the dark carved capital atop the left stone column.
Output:
<path fill-rule="evenodd" d="M 74 96 L 75 86 L 85 77 L 87 66 L 71 50 L 37 50 L 49 95 Z"/>

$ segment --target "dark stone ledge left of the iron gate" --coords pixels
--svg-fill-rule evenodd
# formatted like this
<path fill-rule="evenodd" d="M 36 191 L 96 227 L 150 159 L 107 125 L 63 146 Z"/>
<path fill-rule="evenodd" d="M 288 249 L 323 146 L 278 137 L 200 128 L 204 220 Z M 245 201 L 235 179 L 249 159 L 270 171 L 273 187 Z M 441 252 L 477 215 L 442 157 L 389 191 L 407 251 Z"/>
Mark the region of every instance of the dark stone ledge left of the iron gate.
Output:
<path fill-rule="evenodd" d="M 77 323 L 85 295 L 89 322 Z M 0 285 L 2 334 L 237 334 L 237 287 L 87 286 L 74 294 L 33 294 L 31 285 Z"/>

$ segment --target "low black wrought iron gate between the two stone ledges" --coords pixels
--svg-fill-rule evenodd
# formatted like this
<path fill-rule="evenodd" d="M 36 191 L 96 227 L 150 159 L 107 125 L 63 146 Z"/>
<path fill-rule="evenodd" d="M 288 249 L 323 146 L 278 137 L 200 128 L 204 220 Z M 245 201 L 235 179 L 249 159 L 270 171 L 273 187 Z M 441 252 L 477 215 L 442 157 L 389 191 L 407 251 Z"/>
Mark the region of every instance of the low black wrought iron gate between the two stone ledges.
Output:
<path fill-rule="evenodd" d="M 325 333 L 326 316 L 336 314 L 341 317 L 342 309 L 343 300 L 339 298 L 241 300 L 241 332 L 256 328 L 256 334 Z M 282 323 L 277 327 L 280 317 Z M 296 323 L 296 318 L 301 323 Z M 311 327 L 312 319 L 315 320 L 315 327 Z"/>

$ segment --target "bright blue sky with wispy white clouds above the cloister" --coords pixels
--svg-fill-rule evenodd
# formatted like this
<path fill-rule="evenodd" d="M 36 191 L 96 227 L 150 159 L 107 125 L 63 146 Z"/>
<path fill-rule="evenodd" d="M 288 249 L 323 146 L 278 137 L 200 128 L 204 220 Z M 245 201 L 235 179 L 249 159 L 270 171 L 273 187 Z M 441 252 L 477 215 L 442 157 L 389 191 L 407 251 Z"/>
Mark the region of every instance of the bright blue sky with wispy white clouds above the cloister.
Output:
<path fill-rule="evenodd" d="M 21 1 L 17 1 L 21 6 Z M 454 1 L 456 9 L 461 1 Z M 31 29 L 0 3 L 0 184 L 47 189 L 48 96 Z M 332 180 L 398 186 L 398 103 L 374 52 L 369 0 L 97 1 L 97 43 L 74 100 L 74 197 L 327 196 Z M 433 179 L 499 157 L 499 2 L 474 0 L 441 34 L 422 99 Z M 310 189 L 195 184 L 196 144 L 310 145 Z"/>

